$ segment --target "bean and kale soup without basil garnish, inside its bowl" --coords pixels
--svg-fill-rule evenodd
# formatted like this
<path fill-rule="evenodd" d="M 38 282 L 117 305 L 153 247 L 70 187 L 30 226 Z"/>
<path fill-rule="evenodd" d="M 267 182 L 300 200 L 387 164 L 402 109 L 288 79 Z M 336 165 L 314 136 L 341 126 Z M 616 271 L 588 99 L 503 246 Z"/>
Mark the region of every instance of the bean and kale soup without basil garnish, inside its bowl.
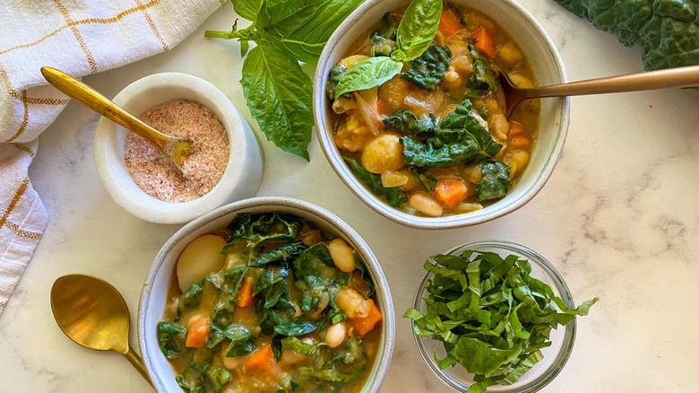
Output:
<path fill-rule="evenodd" d="M 357 392 L 383 320 L 344 240 L 290 214 L 237 214 L 190 242 L 158 325 L 177 383 L 199 392 Z"/>

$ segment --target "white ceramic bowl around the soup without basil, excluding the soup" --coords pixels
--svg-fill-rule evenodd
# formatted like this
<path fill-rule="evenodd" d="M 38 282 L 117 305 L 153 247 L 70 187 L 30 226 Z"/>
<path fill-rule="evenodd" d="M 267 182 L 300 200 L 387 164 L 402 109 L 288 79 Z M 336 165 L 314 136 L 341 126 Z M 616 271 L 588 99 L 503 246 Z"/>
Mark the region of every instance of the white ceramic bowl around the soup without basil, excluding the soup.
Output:
<path fill-rule="evenodd" d="M 160 352 L 157 327 L 162 320 L 163 310 L 168 301 L 168 287 L 175 275 L 177 258 L 185 246 L 194 238 L 225 227 L 238 213 L 280 212 L 297 214 L 332 231 L 357 249 L 364 260 L 367 271 L 374 281 L 378 308 L 384 315 L 381 339 L 376 353 L 374 368 L 369 374 L 362 393 L 377 393 L 384 383 L 393 354 L 395 341 L 395 317 L 393 301 L 388 283 L 374 253 L 356 231 L 336 215 L 316 205 L 289 197 L 255 197 L 221 206 L 193 222 L 186 224 L 162 246 L 153 261 L 151 271 L 143 286 L 138 310 L 138 343 L 143 362 L 151 377 L 153 386 L 159 393 L 180 392 L 175 380 L 175 371 Z"/>

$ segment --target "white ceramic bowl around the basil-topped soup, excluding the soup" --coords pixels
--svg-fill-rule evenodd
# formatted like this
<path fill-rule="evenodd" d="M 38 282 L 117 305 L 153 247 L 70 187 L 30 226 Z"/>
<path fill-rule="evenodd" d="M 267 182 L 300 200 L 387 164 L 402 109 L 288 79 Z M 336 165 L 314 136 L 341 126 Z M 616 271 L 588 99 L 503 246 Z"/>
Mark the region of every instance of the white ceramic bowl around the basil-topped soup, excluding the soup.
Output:
<path fill-rule="evenodd" d="M 565 66 L 556 47 L 539 22 L 522 5 L 514 0 L 450 0 L 450 2 L 465 4 L 486 13 L 505 28 L 505 31 L 513 36 L 529 57 L 539 85 L 567 81 Z M 325 45 L 315 71 L 313 92 L 315 128 L 325 156 L 340 179 L 362 202 L 395 223 L 421 229 L 459 228 L 484 223 L 512 213 L 539 192 L 556 166 L 568 129 L 570 100 L 567 98 L 541 100 L 539 136 L 529 167 L 507 196 L 482 210 L 469 214 L 431 218 L 394 209 L 362 185 L 343 162 L 334 144 L 330 113 L 332 109 L 325 98 L 325 84 L 330 68 L 341 59 L 352 40 L 379 21 L 384 13 L 409 3 L 407 0 L 367 0 L 341 23 Z"/>

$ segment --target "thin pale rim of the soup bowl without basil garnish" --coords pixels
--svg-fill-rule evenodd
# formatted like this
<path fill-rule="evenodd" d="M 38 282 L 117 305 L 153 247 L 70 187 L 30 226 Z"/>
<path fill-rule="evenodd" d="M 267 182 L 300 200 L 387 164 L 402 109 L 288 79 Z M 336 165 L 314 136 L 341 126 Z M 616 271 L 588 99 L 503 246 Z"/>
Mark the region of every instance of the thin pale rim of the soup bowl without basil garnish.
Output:
<path fill-rule="evenodd" d="M 149 377 L 151 378 L 153 387 L 159 393 L 168 393 L 168 390 L 161 382 L 159 374 L 157 374 L 155 371 L 156 367 L 153 363 L 152 357 L 154 355 L 157 356 L 162 354 L 160 351 L 156 352 L 156 354 L 152 354 L 148 351 L 147 342 L 150 340 L 150 338 L 148 338 L 149 331 L 146 329 L 146 327 L 151 326 L 151 323 L 146 320 L 146 316 L 148 314 L 149 301 L 152 293 L 152 283 L 154 282 L 156 275 L 158 275 L 160 268 L 165 265 L 169 249 L 172 249 L 178 242 L 184 240 L 191 232 L 198 230 L 204 225 L 207 225 L 229 214 L 243 213 L 248 209 L 259 207 L 269 207 L 269 211 L 274 211 L 275 209 L 279 208 L 303 210 L 306 214 L 308 214 L 306 218 L 309 220 L 324 220 L 327 223 L 331 223 L 332 228 L 328 228 L 328 230 L 332 231 L 342 239 L 350 240 L 352 244 L 356 246 L 356 249 L 364 259 L 365 266 L 367 266 L 367 271 L 374 281 L 376 299 L 380 302 L 379 307 L 384 311 L 384 323 L 382 324 L 382 339 L 379 345 L 379 352 L 376 354 L 374 366 L 372 371 L 369 373 L 367 383 L 362 389 L 362 393 L 378 393 L 386 378 L 395 345 L 395 315 L 393 310 L 393 298 L 391 296 L 391 290 L 388 282 L 386 281 L 383 269 L 381 268 L 378 259 L 375 257 L 374 252 L 369 248 L 367 242 L 358 234 L 357 231 L 352 229 L 349 224 L 342 221 L 340 217 L 332 214 L 318 205 L 287 196 L 257 196 L 220 206 L 207 214 L 197 217 L 192 222 L 187 223 L 185 226 L 175 232 L 160 248 L 158 254 L 153 259 L 151 268 L 146 277 L 146 281 L 143 284 L 139 299 L 137 317 L 138 345 L 142 354 L 143 363 Z M 175 266 L 174 263 L 173 266 Z M 175 267 L 173 267 L 173 269 L 174 268 Z"/>

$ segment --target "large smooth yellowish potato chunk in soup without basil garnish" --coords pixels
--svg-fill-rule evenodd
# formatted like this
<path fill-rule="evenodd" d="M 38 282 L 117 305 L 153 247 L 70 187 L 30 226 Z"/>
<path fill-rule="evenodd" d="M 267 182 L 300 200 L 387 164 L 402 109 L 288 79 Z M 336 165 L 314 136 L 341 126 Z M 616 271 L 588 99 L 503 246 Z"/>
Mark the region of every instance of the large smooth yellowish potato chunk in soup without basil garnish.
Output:
<path fill-rule="evenodd" d="M 183 293 L 223 266 L 220 249 L 225 245 L 226 240 L 216 235 L 203 235 L 186 245 L 177 259 L 177 284 Z"/>

